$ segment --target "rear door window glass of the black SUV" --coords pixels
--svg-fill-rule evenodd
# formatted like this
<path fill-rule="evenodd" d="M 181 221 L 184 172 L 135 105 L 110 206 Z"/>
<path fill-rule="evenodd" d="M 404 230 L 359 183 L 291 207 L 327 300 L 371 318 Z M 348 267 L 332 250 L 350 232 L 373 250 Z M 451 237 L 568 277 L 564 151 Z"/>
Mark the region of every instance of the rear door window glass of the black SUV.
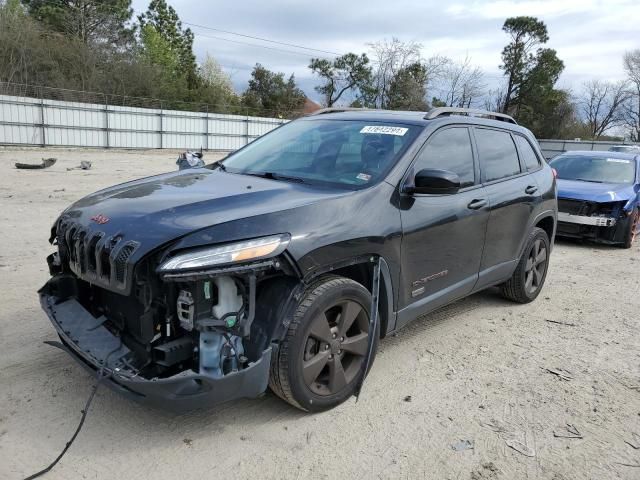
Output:
<path fill-rule="evenodd" d="M 475 129 L 480 167 L 487 182 L 520 173 L 520 161 L 511 134 L 486 128 Z"/>

